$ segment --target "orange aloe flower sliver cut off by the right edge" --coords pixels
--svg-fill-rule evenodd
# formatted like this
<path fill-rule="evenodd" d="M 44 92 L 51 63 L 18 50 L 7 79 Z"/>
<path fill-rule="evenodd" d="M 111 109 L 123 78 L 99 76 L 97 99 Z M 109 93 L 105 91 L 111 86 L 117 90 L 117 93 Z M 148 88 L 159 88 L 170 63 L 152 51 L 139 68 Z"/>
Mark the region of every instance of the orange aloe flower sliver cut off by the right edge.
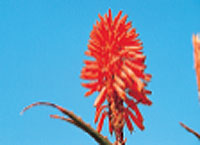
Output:
<path fill-rule="evenodd" d="M 193 35 L 194 67 L 196 69 L 198 95 L 200 100 L 200 35 Z"/>

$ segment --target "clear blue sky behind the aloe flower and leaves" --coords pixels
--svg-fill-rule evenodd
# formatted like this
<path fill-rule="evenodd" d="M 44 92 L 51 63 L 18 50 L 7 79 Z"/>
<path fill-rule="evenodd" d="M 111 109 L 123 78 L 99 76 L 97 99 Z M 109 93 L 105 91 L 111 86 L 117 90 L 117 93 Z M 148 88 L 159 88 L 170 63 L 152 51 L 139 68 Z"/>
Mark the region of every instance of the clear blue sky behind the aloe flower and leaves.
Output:
<path fill-rule="evenodd" d="M 89 33 L 111 8 L 128 14 L 153 75 L 151 107 L 141 106 L 144 131 L 125 130 L 127 145 L 197 145 L 179 125 L 200 132 L 200 104 L 193 65 L 192 34 L 200 31 L 199 0 L 1 0 L 0 1 L 0 145 L 96 144 L 87 134 L 36 107 L 36 101 L 59 104 L 93 127 L 93 101 L 84 98 L 79 78 Z M 61 114 L 60 114 L 61 115 Z M 103 128 L 104 135 L 108 127 Z"/>

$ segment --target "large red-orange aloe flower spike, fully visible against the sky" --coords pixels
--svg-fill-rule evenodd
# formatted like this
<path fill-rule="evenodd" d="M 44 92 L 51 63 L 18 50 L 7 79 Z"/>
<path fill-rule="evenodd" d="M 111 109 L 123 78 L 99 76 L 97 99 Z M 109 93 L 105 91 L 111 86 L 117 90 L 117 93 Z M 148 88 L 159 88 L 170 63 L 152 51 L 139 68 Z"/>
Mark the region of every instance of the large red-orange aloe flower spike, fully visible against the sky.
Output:
<path fill-rule="evenodd" d="M 137 107 L 139 103 L 151 105 L 147 98 L 151 91 L 146 90 L 151 75 L 145 74 L 145 56 L 142 42 L 137 38 L 131 22 L 126 22 L 127 15 L 120 18 L 122 11 L 112 19 L 111 10 L 104 17 L 99 15 L 90 34 L 87 56 L 81 78 L 89 80 L 82 86 L 89 89 L 85 96 L 99 92 L 94 102 L 96 107 L 95 123 L 100 132 L 104 119 L 109 118 L 109 131 L 116 135 L 118 142 L 123 141 L 123 127 L 126 123 L 130 132 L 132 122 L 144 129 L 143 117 Z M 104 102 L 107 101 L 107 104 Z"/>

